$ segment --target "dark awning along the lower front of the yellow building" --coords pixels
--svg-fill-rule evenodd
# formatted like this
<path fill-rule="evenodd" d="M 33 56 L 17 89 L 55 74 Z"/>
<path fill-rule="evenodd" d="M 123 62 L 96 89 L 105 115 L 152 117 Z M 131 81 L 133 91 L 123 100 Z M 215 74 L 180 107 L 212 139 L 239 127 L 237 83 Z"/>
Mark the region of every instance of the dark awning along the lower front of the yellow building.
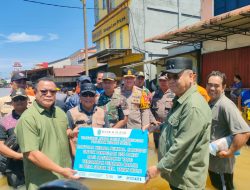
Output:
<path fill-rule="evenodd" d="M 124 57 L 130 52 L 131 49 L 105 49 L 89 56 L 89 58 L 96 57 L 98 63 L 106 63 L 109 60 Z"/>

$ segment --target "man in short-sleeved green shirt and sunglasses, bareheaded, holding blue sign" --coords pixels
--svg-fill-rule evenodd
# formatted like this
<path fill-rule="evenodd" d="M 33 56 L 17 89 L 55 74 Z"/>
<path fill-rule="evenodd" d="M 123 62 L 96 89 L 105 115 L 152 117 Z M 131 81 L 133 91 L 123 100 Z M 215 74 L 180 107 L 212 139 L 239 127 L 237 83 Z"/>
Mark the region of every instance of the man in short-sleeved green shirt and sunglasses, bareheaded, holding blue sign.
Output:
<path fill-rule="evenodd" d="M 23 153 L 28 190 L 60 178 L 76 179 L 71 167 L 66 114 L 54 106 L 56 85 L 49 78 L 38 80 L 36 100 L 21 116 L 15 129 Z"/>

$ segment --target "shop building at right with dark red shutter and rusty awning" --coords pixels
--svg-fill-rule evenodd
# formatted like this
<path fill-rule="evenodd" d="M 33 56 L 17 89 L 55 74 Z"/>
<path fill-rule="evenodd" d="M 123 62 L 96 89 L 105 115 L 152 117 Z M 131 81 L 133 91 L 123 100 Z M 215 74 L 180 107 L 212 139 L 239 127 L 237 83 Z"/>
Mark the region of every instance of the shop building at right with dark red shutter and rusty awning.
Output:
<path fill-rule="evenodd" d="M 202 85 L 211 71 L 219 70 L 227 75 L 227 86 L 232 85 L 234 74 L 240 74 L 243 86 L 249 88 L 250 0 L 202 0 L 201 18 L 200 22 L 145 42 L 200 46 L 196 63 Z"/>

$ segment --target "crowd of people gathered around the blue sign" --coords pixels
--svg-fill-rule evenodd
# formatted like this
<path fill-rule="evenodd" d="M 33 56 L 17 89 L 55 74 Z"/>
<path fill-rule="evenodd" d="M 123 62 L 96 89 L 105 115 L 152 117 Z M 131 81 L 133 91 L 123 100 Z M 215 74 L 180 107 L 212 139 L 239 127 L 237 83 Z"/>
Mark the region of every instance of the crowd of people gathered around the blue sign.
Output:
<path fill-rule="evenodd" d="M 30 88 L 24 90 L 27 78 L 16 73 L 11 95 L 0 98 L 0 154 L 11 160 L 1 172 L 9 185 L 25 183 L 29 190 L 57 179 L 77 180 L 72 162 L 80 127 L 142 129 L 153 132 L 158 149 L 148 180 L 160 174 L 173 190 L 205 189 L 209 174 L 215 188 L 234 189 L 234 153 L 246 144 L 250 128 L 225 96 L 224 73 L 211 72 L 206 89 L 196 79 L 192 60 L 176 57 L 167 60 L 154 92 L 145 87 L 143 72 L 125 68 L 121 85 L 114 73 L 99 72 L 96 84 L 79 77 L 68 95 L 51 78 L 41 78 L 32 96 Z M 15 150 L 6 144 L 12 136 Z M 209 154 L 209 143 L 227 136 L 229 148 Z"/>

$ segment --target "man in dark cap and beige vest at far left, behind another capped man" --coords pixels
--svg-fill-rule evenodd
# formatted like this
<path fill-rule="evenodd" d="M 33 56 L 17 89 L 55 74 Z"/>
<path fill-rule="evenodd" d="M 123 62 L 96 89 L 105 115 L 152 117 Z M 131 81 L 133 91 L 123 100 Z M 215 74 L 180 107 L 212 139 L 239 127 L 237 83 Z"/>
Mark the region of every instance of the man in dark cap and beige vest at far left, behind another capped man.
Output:
<path fill-rule="evenodd" d="M 26 81 L 27 77 L 21 73 L 14 73 L 13 76 L 11 77 L 11 88 L 12 90 L 16 90 L 18 88 L 26 88 Z M 32 104 L 34 101 L 33 96 L 28 96 L 28 107 Z M 12 100 L 10 96 L 4 96 L 0 98 L 0 118 L 5 116 L 8 113 L 11 113 L 13 110 L 12 106 Z"/>

